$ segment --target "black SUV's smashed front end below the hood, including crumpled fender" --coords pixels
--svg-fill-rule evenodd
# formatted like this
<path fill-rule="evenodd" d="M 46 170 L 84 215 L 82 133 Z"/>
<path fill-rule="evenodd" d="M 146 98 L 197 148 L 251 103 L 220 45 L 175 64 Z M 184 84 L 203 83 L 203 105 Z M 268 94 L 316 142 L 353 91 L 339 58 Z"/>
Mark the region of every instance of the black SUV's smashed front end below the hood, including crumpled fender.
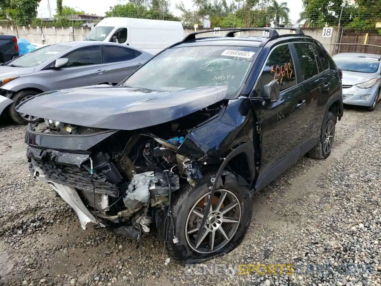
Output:
<path fill-rule="evenodd" d="M 159 214 L 170 213 L 174 193 L 227 162 L 237 138 L 250 142 L 250 110 L 244 106 L 243 99 L 220 101 L 133 131 L 45 120 L 43 128 L 28 127 L 30 171 L 75 210 L 82 228 L 91 222 L 139 239 L 162 223 Z"/>

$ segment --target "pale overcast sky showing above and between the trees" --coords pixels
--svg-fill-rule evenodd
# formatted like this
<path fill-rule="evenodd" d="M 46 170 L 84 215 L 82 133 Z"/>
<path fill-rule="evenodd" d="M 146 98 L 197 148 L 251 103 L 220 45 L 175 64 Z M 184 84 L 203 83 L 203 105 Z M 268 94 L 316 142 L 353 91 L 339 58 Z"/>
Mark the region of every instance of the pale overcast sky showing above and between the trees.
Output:
<path fill-rule="evenodd" d="M 48 1 L 50 1 L 50 9 L 52 16 L 56 13 L 56 0 L 42 0 L 40 6 L 38 7 L 38 17 L 49 17 Z M 295 24 L 299 19 L 299 13 L 302 10 L 302 0 L 282 0 L 288 3 L 288 8 L 290 8 L 290 20 L 292 24 Z M 126 3 L 122 0 L 122 3 Z M 171 11 L 175 16 L 180 16 L 180 11 L 175 9 L 176 3 L 180 0 L 171 0 Z M 191 0 L 183 1 L 186 8 L 192 8 Z M 281 0 L 279 0 L 281 2 Z M 99 16 L 104 16 L 104 13 L 109 10 L 110 6 L 114 6 L 118 3 L 118 0 L 62 0 L 62 5 L 77 7 L 77 10 L 83 10 L 86 13 L 97 14 Z"/>

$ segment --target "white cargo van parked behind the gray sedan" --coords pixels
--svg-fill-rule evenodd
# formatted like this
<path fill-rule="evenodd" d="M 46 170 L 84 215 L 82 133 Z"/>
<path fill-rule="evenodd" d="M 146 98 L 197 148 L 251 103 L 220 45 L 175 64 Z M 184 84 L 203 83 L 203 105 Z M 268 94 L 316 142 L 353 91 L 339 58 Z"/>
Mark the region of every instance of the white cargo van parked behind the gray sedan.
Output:
<path fill-rule="evenodd" d="M 155 55 L 183 37 L 181 22 L 110 17 L 96 24 L 84 40 L 117 42 Z"/>

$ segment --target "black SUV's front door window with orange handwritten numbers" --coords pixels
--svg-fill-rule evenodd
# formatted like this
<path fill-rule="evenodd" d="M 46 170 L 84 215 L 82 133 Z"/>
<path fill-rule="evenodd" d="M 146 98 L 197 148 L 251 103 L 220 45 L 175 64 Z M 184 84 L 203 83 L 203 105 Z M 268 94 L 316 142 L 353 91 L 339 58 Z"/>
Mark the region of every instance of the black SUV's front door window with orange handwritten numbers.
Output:
<path fill-rule="evenodd" d="M 271 51 L 261 74 L 261 87 L 274 79 L 279 79 L 280 91 L 296 84 L 294 63 L 288 45 L 276 47 Z"/>

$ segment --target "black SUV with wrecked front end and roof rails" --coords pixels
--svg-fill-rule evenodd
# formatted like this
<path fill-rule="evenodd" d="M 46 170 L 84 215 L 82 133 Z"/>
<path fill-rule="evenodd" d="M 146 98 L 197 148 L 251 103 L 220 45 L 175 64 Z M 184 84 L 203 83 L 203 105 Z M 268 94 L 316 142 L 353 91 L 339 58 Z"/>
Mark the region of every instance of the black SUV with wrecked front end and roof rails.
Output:
<path fill-rule="evenodd" d="M 235 37 L 266 31 L 268 36 Z M 330 155 L 341 71 L 293 29 L 188 35 L 117 86 L 45 92 L 17 107 L 27 157 L 89 222 L 132 239 L 153 228 L 178 263 L 234 249 L 252 198 L 299 157 Z"/>

